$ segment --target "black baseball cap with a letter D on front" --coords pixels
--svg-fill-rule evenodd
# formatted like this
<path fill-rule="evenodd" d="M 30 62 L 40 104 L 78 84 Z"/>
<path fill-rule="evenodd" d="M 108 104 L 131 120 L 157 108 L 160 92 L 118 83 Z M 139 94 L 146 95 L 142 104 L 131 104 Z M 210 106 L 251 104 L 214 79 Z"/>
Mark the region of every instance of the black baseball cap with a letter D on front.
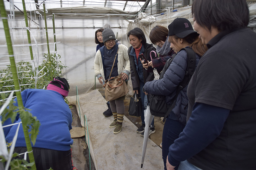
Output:
<path fill-rule="evenodd" d="M 179 38 L 184 38 L 189 34 L 196 33 L 196 31 L 193 30 L 191 23 L 186 18 L 174 19 L 168 26 L 168 29 L 168 36 L 176 35 Z"/>

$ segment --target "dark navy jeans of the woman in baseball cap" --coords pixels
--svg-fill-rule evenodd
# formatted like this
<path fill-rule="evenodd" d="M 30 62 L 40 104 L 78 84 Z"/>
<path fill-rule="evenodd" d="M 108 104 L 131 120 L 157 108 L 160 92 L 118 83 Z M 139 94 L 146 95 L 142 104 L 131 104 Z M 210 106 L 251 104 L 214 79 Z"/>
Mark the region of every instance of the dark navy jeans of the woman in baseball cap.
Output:
<path fill-rule="evenodd" d="M 163 129 L 163 138 L 162 138 L 162 156 L 164 160 L 164 169 L 166 170 L 166 158 L 169 153 L 169 147 L 174 143 L 175 139 L 179 138 L 179 134 L 183 131 L 185 125 L 180 123 L 178 120 L 172 120 L 166 118 Z M 176 166 L 174 169 L 177 170 L 179 167 Z"/>

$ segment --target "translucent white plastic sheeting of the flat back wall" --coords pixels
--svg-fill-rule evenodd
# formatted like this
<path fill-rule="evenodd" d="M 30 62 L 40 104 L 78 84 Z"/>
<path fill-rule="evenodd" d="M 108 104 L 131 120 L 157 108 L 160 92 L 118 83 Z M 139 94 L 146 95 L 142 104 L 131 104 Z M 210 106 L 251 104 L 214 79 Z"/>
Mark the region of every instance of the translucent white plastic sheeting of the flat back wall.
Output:
<path fill-rule="evenodd" d="M 48 11 L 49 12 L 49 11 Z M 32 19 L 35 19 L 32 17 Z M 39 64 L 43 62 L 43 55 L 47 52 L 46 34 L 44 20 L 41 17 L 35 20 L 39 26 L 30 22 L 31 44 L 35 60 L 39 54 Z M 95 31 L 109 23 L 117 39 L 129 47 L 127 40 L 128 21 L 120 16 L 107 17 L 57 17 L 55 16 L 55 35 L 57 42 L 57 54 L 60 54 L 63 65 L 67 66 L 62 70 L 62 75 L 70 83 L 70 94 L 75 95 L 76 85 L 82 92 L 87 92 L 95 85 L 95 76 L 93 63 L 96 54 Z M 52 16 L 47 17 L 48 37 L 50 43 L 50 53 L 55 52 Z M 24 22 L 24 17 L 15 17 L 15 22 L 9 22 L 13 39 L 13 47 L 16 62 L 24 60 L 30 61 L 28 39 Z M 0 28 L 3 28 L 0 23 Z M 33 37 L 35 40 L 33 39 Z M 9 64 L 8 49 L 4 30 L 0 31 L 0 69 Z M 36 41 L 36 42 L 35 42 Z M 35 45 L 38 44 L 38 47 Z M 39 51 L 39 52 L 37 52 Z M 102 88 L 102 85 L 96 79 L 96 88 Z"/>

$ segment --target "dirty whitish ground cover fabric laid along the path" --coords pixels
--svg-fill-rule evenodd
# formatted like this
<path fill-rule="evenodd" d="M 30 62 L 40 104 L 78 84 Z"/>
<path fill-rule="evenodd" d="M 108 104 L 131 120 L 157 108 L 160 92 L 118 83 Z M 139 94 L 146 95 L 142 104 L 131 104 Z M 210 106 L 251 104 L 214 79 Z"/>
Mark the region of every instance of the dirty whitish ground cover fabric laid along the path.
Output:
<path fill-rule="evenodd" d="M 78 90 L 79 93 L 79 90 Z M 162 149 L 150 139 L 147 152 L 141 168 L 143 137 L 136 133 L 137 127 L 124 116 L 122 131 L 114 134 L 114 128 L 109 128 L 113 117 L 105 117 L 102 113 L 107 109 L 106 100 L 98 90 L 67 97 L 70 104 L 77 106 L 81 124 L 87 131 L 84 115 L 87 118 L 89 131 L 90 154 L 96 169 L 164 169 Z M 80 113 L 79 113 L 80 108 Z M 86 141 L 88 136 L 86 132 Z"/>

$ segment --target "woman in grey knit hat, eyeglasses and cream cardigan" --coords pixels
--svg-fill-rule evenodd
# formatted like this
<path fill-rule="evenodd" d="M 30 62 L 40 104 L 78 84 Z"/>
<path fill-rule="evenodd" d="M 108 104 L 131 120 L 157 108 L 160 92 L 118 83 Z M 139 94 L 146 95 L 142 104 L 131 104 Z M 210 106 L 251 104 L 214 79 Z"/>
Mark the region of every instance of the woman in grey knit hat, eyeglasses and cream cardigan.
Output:
<path fill-rule="evenodd" d="M 104 80 L 109 79 L 112 65 L 114 63 L 111 77 L 122 74 L 122 79 L 127 83 L 130 74 L 130 61 L 127 54 L 127 47 L 115 42 L 115 34 L 109 28 L 105 28 L 102 32 L 102 39 L 104 46 L 100 47 L 97 51 L 94 60 L 95 76 L 103 85 Z M 119 133 L 122 129 L 122 123 L 124 120 L 124 99 L 125 95 L 118 99 L 109 101 L 110 108 L 114 116 L 114 121 L 109 125 L 109 127 L 115 127 L 114 134 Z"/>

